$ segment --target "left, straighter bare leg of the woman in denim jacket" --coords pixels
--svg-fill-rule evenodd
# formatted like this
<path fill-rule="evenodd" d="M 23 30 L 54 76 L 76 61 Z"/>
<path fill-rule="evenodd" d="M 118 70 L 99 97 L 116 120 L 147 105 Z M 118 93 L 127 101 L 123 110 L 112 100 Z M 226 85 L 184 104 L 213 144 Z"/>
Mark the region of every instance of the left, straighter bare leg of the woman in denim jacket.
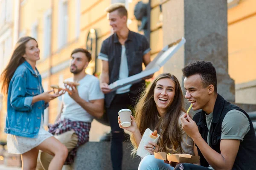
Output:
<path fill-rule="evenodd" d="M 38 149 L 33 148 L 21 154 L 22 170 L 35 170 L 38 157 Z"/>

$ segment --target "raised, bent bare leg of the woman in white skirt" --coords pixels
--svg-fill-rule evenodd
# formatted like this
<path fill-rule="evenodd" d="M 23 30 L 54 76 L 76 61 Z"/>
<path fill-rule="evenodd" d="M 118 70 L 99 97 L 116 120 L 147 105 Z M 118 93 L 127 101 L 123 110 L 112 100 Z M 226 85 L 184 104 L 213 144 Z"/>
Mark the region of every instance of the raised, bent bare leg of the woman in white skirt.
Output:
<path fill-rule="evenodd" d="M 58 141 L 58 139 L 55 137 L 51 136 L 45 139 L 44 142 L 39 144 L 36 148 L 54 156 L 49 164 L 48 170 L 61 170 L 68 154 L 67 147 L 65 147 L 64 144 Z"/>

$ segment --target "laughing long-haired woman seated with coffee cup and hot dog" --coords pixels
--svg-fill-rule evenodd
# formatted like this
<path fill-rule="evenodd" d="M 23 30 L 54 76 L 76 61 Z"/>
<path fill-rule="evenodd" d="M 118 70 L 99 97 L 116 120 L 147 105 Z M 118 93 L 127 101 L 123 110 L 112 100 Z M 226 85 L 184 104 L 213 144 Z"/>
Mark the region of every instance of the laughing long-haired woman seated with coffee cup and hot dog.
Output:
<path fill-rule="evenodd" d="M 180 83 L 174 75 L 164 73 L 158 75 L 143 91 L 135 106 L 135 117 L 131 116 L 130 127 L 122 127 L 130 131 L 131 143 L 135 154 L 147 128 L 160 133 L 159 141 L 145 145 L 151 155 L 140 162 L 139 170 L 173 170 L 170 164 L 155 159 L 154 152 L 187 153 L 194 155 L 193 141 L 181 127 L 180 117 L 186 112 L 183 109 L 183 94 Z"/>

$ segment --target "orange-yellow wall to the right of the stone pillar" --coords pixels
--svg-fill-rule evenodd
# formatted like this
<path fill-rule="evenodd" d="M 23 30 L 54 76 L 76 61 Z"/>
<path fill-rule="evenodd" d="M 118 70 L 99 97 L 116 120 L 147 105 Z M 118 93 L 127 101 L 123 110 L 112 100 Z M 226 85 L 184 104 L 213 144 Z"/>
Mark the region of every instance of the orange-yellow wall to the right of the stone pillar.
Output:
<path fill-rule="evenodd" d="M 236 84 L 256 79 L 256 1 L 228 10 L 228 71 Z"/>

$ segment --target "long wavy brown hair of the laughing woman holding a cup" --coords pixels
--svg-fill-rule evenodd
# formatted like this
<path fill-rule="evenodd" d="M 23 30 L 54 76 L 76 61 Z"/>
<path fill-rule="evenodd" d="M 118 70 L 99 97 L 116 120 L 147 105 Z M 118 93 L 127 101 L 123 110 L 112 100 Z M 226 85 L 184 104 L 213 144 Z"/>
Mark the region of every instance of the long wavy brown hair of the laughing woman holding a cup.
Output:
<path fill-rule="evenodd" d="M 174 82 L 175 96 L 173 102 L 159 119 L 157 116 L 157 106 L 153 96 L 157 81 L 160 79 L 171 79 Z M 143 135 L 147 128 L 160 132 L 158 145 L 159 151 L 161 152 L 169 151 L 171 153 L 181 153 L 181 150 L 178 149 L 180 148 L 181 134 L 178 119 L 182 111 L 186 112 L 183 108 L 183 102 L 183 94 L 177 78 L 172 74 L 163 73 L 158 75 L 153 82 L 148 85 L 135 106 L 134 119 L 136 120 L 140 133 Z M 135 142 L 133 134 L 131 134 L 131 143 L 134 146 L 134 149 L 132 150 L 132 155 L 134 155 L 137 152 L 138 145 Z"/>

